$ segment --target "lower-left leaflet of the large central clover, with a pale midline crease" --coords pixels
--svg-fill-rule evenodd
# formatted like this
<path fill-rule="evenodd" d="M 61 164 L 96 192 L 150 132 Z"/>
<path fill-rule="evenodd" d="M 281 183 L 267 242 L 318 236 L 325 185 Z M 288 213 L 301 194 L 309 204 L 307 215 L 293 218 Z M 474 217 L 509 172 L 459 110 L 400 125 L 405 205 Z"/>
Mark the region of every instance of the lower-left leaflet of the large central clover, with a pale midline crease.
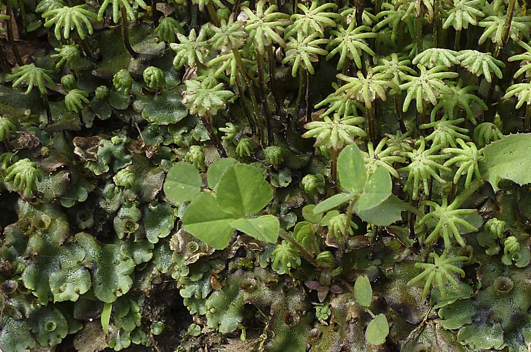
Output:
<path fill-rule="evenodd" d="M 208 193 L 195 197 L 182 217 L 186 231 L 216 249 L 228 246 L 234 233 L 230 223 L 234 220 L 234 216 L 224 212 L 216 198 Z"/>

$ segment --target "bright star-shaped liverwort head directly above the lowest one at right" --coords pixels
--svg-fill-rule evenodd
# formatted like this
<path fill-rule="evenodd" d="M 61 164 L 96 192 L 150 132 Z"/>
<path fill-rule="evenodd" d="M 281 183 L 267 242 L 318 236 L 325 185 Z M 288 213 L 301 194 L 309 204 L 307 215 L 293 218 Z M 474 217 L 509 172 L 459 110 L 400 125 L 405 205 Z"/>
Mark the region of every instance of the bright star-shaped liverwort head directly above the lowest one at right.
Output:
<path fill-rule="evenodd" d="M 423 205 L 429 205 L 433 210 L 418 222 L 419 225 L 426 224 L 430 219 L 436 220 L 436 225 L 430 235 L 426 237 L 424 243 L 426 245 L 438 240 L 440 237 L 444 240 L 444 249 L 449 252 L 452 248 L 450 237 L 453 236 L 461 247 L 466 247 L 466 242 L 461 237 L 458 226 L 462 226 L 470 231 L 478 231 L 473 225 L 462 218 L 463 215 L 474 214 L 476 209 L 458 209 L 460 205 L 460 198 L 457 197 L 450 205 L 448 205 L 448 197 L 442 198 L 442 204 L 439 205 L 431 200 L 424 200 Z M 431 225 L 430 225 L 431 226 Z"/>

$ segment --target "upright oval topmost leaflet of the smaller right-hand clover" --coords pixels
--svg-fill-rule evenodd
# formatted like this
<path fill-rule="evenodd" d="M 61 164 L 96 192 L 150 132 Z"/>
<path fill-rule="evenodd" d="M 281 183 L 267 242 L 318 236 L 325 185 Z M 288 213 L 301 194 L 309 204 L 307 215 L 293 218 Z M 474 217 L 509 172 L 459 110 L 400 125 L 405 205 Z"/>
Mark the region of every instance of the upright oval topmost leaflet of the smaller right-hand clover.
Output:
<path fill-rule="evenodd" d="M 337 158 L 339 185 L 346 191 L 359 194 L 365 186 L 367 172 L 359 148 L 351 144 L 341 150 Z"/>

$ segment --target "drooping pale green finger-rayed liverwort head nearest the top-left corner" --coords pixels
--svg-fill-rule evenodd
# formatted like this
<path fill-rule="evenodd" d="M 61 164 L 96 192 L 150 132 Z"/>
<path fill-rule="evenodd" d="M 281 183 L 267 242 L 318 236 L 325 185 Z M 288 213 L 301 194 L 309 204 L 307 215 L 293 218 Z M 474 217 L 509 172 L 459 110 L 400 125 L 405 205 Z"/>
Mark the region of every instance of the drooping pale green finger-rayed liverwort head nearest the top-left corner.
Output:
<path fill-rule="evenodd" d="M 42 14 L 42 18 L 46 19 L 44 27 L 52 27 L 55 24 L 55 38 L 57 40 L 70 38 L 70 31 L 74 28 L 78 31 L 79 37 L 85 39 L 83 23 L 87 27 L 89 35 L 91 35 L 93 29 L 90 20 L 96 20 L 96 14 L 87 10 L 87 5 L 64 6 L 46 11 Z"/>

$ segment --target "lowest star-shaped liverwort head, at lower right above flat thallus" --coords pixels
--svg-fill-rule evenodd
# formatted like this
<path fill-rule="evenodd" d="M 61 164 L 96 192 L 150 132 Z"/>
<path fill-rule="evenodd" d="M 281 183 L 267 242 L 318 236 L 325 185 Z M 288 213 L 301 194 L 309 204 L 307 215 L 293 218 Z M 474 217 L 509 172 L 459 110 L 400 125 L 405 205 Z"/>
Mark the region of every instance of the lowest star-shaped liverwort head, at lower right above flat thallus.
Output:
<path fill-rule="evenodd" d="M 433 264 L 415 263 L 415 267 L 423 269 L 423 272 L 409 280 L 407 286 L 413 286 L 425 279 L 426 283 L 422 291 L 423 298 L 426 298 L 430 293 L 431 287 L 439 287 L 442 299 L 446 299 L 446 284 L 448 282 L 456 289 L 459 287 L 459 283 L 453 278 L 453 274 L 457 273 L 461 278 L 465 277 L 463 269 L 453 265 L 453 263 L 466 262 L 468 257 L 448 257 L 448 252 L 444 252 L 441 256 L 436 253 L 430 253 L 430 257 L 433 258 Z"/>

